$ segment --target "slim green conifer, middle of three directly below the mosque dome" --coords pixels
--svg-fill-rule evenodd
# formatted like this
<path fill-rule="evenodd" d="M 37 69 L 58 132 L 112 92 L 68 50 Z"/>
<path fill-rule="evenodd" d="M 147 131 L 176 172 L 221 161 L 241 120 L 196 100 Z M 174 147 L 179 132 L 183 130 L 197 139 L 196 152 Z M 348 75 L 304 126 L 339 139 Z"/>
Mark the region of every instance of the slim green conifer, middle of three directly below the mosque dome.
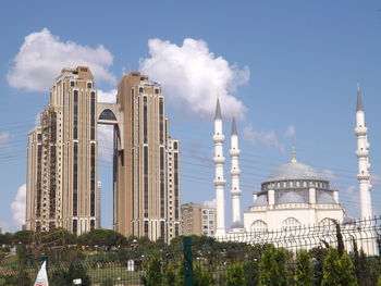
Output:
<path fill-rule="evenodd" d="M 305 250 L 297 254 L 294 281 L 295 286 L 314 286 L 311 254 Z"/>

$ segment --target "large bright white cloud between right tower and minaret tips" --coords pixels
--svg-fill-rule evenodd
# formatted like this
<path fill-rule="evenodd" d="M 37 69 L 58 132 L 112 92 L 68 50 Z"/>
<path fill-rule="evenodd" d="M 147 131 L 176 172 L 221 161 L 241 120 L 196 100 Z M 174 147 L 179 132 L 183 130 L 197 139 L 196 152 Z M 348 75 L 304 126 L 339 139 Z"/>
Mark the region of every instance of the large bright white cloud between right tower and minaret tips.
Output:
<path fill-rule="evenodd" d="M 179 47 L 170 41 L 150 39 L 151 58 L 140 59 L 140 71 L 163 85 L 167 98 L 186 104 L 200 116 L 214 113 L 217 97 L 225 116 L 243 117 L 246 108 L 231 95 L 250 77 L 247 66 L 239 70 L 209 51 L 207 42 L 186 38 Z"/>

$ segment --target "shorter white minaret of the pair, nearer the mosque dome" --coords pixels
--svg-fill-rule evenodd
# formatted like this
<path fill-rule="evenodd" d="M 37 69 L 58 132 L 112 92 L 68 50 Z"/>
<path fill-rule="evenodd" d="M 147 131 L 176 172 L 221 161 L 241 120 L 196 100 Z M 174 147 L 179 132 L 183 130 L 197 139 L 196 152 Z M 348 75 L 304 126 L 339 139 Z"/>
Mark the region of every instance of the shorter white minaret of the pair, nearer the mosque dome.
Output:
<path fill-rule="evenodd" d="M 233 117 L 232 122 L 232 137 L 231 137 L 231 149 L 230 149 L 230 156 L 232 158 L 232 169 L 230 171 L 232 175 L 232 189 L 230 194 L 232 195 L 232 202 L 233 202 L 233 228 L 241 227 L 241 189 L 239 189 L 239 149 L 238 149 L 238 134 L 237 134 L 237 126 L 235 124 L 235 119 Z"/>

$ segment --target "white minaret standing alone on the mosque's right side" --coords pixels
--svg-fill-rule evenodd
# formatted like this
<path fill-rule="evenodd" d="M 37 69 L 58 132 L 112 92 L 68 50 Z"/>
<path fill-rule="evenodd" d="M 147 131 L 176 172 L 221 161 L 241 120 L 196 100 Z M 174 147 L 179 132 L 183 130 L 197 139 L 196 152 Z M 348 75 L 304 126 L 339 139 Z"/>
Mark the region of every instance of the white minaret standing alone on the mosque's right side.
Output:
<path fill-rule="evenodd" d="M 365 114 L 361 100 L 361 90 L 357 85 L 357 107 L 356 107 L 356 127 L 355 133 L 357 137 L 357 165 L 358 174 L 357 181 L 360 191 L 361 217 L 369 219 L 371 213 L 370 200 L 370 174 L 369 174 L 369 142 L 367 138 L 368 128 L 365 125 Z"/>

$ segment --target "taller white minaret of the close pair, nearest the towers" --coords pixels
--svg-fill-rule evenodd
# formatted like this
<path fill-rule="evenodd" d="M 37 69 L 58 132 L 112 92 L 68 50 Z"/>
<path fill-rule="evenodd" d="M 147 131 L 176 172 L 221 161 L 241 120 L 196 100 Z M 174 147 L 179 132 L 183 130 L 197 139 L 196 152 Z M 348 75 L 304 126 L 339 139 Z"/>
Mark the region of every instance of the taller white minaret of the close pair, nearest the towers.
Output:
<path fill-rule="evenodd" d="M 216 236 L 225 235 L 225 198 L 224 186 L 226 181 L 223 178 L 223 163 L 225 158 L 223 157 L 223 140 L 222 134 L 222 116 L 220 101 L 217 99 L 216 116 L 214 116 L 214 165 L 216 165 L 216 203 L 217 203 L 217 231 Z"/>

